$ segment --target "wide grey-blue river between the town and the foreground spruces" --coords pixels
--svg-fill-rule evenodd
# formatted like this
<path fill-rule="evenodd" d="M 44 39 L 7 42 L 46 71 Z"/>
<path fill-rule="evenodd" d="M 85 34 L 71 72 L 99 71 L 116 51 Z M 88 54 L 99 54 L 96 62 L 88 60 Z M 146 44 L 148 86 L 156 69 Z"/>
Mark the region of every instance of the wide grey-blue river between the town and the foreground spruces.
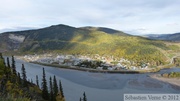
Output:
<path fill-rule="evenodd" d="M 158 94 L 180 93 L 170 84 L 149 77 L 150 74 L 109 74 L 91 73 L 85 71 L 69 70 L 55 67 L 41 66 L 16 59 L 17 71 L 21 73 L 21 65 L 24 64 L 28 79 L 39 83 L 42 80 L 42 68 L 45 68 L 46 79 L 56 76 L 61 80 L 66 101 L 79 101 L 83 92 L 88 101 L 123 101 L 123 94 Z M 161 70 L 160 73 L 179 71 L 179 68 Z"/>

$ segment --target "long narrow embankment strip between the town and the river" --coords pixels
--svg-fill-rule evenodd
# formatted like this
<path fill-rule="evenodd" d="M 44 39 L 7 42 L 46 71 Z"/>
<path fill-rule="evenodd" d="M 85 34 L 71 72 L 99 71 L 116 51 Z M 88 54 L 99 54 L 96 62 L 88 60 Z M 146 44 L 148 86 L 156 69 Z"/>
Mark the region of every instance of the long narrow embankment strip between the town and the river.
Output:
<path fill-rule="evenodd" d="M 136 69 L 136 70 L 128 70 L 128 69 L 100 70 L 100 69 L 92 69 L 92 68 L 85 68 L 85 67 L 78 67 L 78 66 L 68 66 L 68 65 L 63 65 L 63 64 L 49 64 L 49 63 L 41 63 L 41 62 L 36 62 L 36 61 L 31 62 L 25 58 L 22 58 L 22 56 L 16 56 L 16 58 L 26 61 L 26 62 L 44 65 L 44 66 L 58 67 L 58 68 L 64 68 L 64 69 L 73 69 L 73 70 L 79 70 L 79 71 L 98 72 L 98 73 L 124 73 L 124 74 L 155 73 L 155 72 L 159 72 L 162 69 L 172 68 L 175 66 L 174 64 L 166 64 L 166 65 L 161 65 L 154 68 Z"/>

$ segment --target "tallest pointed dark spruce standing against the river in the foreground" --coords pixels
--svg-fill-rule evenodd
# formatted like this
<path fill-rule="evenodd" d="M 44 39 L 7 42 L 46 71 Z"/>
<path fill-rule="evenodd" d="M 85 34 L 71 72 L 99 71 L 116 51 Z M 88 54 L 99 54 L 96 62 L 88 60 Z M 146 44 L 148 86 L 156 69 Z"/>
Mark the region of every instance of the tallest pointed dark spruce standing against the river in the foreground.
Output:
<path fill-rule="evenodd" d="M 47 81 L 46 81 L 46 74 L 43 68 L 43 77 L 42 77 L 42 98 L 45 100 L 49 100 L 49 94 L 47 89 Z"/>

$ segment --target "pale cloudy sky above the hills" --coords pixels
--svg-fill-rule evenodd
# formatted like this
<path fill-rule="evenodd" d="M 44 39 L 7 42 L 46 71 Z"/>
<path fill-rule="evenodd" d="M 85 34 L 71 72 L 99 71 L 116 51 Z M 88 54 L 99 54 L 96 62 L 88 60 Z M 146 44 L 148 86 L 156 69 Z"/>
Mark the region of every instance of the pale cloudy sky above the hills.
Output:
<path fill-rule="evenodd" d="M 129 34 L 180 32 L 180 0 L 0 0 L 0 33 L 65 24 Z"/>

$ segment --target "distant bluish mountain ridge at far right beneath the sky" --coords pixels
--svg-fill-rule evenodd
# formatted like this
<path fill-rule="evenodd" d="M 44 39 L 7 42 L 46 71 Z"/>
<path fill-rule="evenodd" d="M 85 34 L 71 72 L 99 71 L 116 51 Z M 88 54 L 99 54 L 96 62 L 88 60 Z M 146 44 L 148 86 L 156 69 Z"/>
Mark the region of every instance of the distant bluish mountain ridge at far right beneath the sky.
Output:
<path fill-rule="evenodd" d="M 175 33 L 175 34 L 149 34 L 149 35 L 145 35 L 145 36 L 150 38 L 150 39 L 180 42 L 180 33 Z"/>

